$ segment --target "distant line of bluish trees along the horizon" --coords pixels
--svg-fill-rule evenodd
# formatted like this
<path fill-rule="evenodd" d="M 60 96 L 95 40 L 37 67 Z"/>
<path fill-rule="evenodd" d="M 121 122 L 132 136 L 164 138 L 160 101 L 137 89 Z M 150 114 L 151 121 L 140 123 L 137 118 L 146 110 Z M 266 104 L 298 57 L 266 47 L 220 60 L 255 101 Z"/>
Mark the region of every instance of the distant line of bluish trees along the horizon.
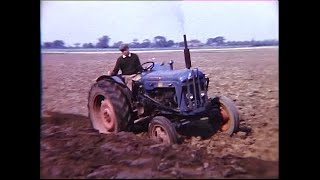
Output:
<path fill-rule="evenodd" d="M 80 43 L 73 44 L 74 46 L 66 46 L 63 40 L 55 40 L 53 42 L 44 42 L 41 46 L 45 49 L 61 49 L 61 48 L 118 48 L 123 41 L 118 41 L 109 45 L 110 37 L 104 35 L 98 38 L 96 43 Z M 278 45 L 278 40 L 263 40 L 263 41 L 226 41 L 223 36 L 217 36 L 214 38 L 208 38 L 206 43 L 203 43 L 197 39 L 191 39 L 188 41 L 189 47 L 204 47 L 204 46 L 274 46 Z M 174 42 L 173 40 L 167 40 L 164 36 L 155 36 L 152 41 L 144 39 L 139 42 L 138 39 L 133 39 L 128 43 L 130 48 L 168 48 L 168 47 L 184 47 L 184 42 Z"/>

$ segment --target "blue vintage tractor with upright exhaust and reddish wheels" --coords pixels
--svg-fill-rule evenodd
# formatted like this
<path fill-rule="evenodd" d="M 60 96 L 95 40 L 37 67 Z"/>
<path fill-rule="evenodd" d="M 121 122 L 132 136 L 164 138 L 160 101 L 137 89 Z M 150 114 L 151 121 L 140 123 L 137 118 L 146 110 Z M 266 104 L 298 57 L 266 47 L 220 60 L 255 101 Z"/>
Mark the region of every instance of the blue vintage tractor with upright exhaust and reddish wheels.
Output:
<path fill-rule="evenodd" d="M 225 96 L 208 97 L 209 78 L 191 68 L 190 52 L 184 35 L 186 68 L 174 70 L 173 61 L 142 64 L 141 78 L 132 90 L 121 74 L 100 76 L 88 96 L 91 125 L 100 133 L 135 131 L 145 127 L 159 143 L 179 143 L 179 129 L 207 120 L 216 132 L 232 135 L 239 128 L 239 113 Z M 192 131 L 192 129 L 189 131 Z"/>

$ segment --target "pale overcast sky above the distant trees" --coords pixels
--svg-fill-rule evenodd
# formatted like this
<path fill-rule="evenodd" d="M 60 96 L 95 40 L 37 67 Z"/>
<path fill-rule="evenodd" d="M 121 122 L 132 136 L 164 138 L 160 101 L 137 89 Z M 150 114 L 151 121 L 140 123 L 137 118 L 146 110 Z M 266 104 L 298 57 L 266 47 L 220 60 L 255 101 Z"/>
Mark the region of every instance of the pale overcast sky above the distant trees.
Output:
<path fill-rule="evenodd" d="M 66 45 L 137 38 L 224 36 L 227 41 L 278 39 L 278 1 L 41 1 L 41 41 Z"/>

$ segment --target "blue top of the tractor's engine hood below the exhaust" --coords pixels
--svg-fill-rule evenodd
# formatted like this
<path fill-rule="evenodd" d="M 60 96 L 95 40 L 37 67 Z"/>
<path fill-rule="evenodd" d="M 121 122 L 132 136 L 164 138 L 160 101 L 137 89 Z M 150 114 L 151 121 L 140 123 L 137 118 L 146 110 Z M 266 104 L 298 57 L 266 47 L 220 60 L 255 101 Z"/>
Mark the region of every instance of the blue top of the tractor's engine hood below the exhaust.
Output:
<path fill-rule="evenodd" d="M 183 82 L 188 78 L 192 78 L 192 71 L 194 76 L 197 75 L 197 69 L 180 69 L 180 70 L 163 70 L 163 71 L 153 71 L 142 77 L 142 81 L 179 81 Z M 198 71 L 199 78 L 203 78 L 204 74 Z"/>

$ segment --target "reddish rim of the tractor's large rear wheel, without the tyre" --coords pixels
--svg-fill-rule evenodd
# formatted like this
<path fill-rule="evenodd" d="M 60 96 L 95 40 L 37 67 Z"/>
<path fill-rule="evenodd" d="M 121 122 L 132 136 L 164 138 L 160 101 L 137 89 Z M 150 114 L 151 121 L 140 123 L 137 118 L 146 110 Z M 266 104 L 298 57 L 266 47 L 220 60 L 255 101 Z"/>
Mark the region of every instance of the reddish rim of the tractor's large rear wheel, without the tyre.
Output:
<path fill-rule="evenodd" d="M 107 129 L 113 131 L 116 125 L 116 115 L 109 99 L 104 96 L 97 96 L 94 101 L 95 117 Z"/>

